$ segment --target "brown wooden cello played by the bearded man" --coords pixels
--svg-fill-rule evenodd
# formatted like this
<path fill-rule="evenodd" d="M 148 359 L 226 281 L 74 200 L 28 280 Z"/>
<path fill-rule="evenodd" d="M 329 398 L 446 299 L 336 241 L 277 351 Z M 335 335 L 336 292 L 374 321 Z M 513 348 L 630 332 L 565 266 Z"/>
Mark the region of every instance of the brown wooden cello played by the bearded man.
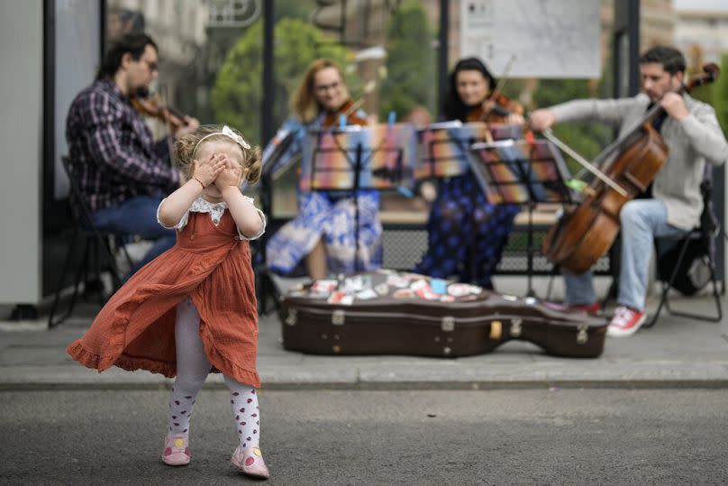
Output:
<path fill-rule="evenodd" d="M 694 87 L 713 82 L 720 73 L 712 63 L 703 70 L 673 92 L 689 93 Z M 623 204 L 648 188 L 668 158 L 668 147 L 652 126 L 652 121 L 663 113 L 662 105 L 655 103 L 639 124 L 599 153 L 593 165 L 604 165 L 605 169 L 585 165 L 597 179 L 583 190 L 578 206 L 567 211 L 546 234 L 541 251 L 549 261 L 574 273 L 584 273 L 609 250 L 620 230 Z M 569 151 L 549 131 L 543 134 Z M 605 163 L 607 159 L 611 161 Z"/>

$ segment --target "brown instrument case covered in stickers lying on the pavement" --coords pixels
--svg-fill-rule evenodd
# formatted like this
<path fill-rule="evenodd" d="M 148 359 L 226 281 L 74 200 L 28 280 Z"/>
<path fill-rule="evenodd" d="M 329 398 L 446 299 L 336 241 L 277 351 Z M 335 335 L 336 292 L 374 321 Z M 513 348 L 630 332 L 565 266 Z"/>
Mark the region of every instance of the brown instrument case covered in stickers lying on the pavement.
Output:
<path fill-rule="evenodd" d="M 536 298 L 384 270 L 293 289 L 279 316 L 283 346 L 312 354 L 457 357 L 520 339 L 556 356 L 593 358 L 604 350 L 607 325 Z"/>

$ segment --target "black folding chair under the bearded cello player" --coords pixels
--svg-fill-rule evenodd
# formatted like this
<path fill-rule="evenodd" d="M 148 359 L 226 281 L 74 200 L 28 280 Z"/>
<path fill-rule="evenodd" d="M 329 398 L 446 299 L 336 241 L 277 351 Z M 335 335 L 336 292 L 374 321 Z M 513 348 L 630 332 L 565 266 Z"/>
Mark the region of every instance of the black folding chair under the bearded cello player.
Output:
<path fill-rule="evenodd" d="M 705 176 L 703 182 L 700 185 L 700 192 L 703 196 L 703 214 L 700 215 L 700 226 L 691 231 L 680 239 L 680 252 L 678 253 L 678 260 L 675 262 L 672 272 L 669 275 L 668 280 L 662 280 L 662 292 L 660 294 L 660 304 L 655 311 L 655 315 L 652 316 L 651 321 L 645 325 L 645 327 L 654 326 L 660 316 L 662 307 L 673 316 L 688 317 L 691 319 L 697 319 L 701 321 L 708 321 L 718 323 L 723 319 L 723 305 L 721 303 L 720 292 L 718 291 L 718 282 L 715 280 L 715 238 L 722 234 L 721 227 L 718 224 L 718 219 L 715 217 L 713 210 L 713 187 L 711 181 L 712 168 L 705 168 Z M 663 238 L 667 239 L 667 238 Z M 714 315 L 696 314 L 692 312 L 683 312 L 674 310 L 669 304 L 669 289 L 675 287 L 678 273 L 681 271 L 683 260 L 687 254 L 687 249 L 690 244 L 700 245 L 701 253 L 704 253 L 701 258 L 705 260 L 705 265 L 710 274 L 710 281 L 713 282 L 713 297 L 715 300 L 715 313 Z M 658 242 L 656 242 L 658 244 Z"/>

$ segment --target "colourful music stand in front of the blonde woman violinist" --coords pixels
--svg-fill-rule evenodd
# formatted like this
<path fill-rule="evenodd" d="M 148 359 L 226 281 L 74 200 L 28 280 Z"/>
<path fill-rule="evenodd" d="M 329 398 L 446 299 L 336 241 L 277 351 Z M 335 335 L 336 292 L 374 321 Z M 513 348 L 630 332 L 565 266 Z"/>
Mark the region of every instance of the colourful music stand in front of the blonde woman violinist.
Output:
<path fill-rule="evenodd" d="M 301 190 L 351 193 L 354 197 L 354 271 L 359 271 L 359 190 L 409 190 L 413 184 L 412 124 L 348 125 L 309 130 Z"/>

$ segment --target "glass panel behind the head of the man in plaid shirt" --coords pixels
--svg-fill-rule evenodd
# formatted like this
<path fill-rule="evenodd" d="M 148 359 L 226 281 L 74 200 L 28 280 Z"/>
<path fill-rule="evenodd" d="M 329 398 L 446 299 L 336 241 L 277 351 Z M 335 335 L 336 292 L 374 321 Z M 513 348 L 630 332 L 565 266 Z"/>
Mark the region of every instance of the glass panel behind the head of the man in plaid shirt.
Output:
<path fill-rule="evenodd" d="M 106 45 L 147 32 L 159 46 L 152 91 L 201 124 L 230 124 L 260 141 L 261 0 L 109 0 Z M 158 135 L 165 133 L 154 125 Z"/>

